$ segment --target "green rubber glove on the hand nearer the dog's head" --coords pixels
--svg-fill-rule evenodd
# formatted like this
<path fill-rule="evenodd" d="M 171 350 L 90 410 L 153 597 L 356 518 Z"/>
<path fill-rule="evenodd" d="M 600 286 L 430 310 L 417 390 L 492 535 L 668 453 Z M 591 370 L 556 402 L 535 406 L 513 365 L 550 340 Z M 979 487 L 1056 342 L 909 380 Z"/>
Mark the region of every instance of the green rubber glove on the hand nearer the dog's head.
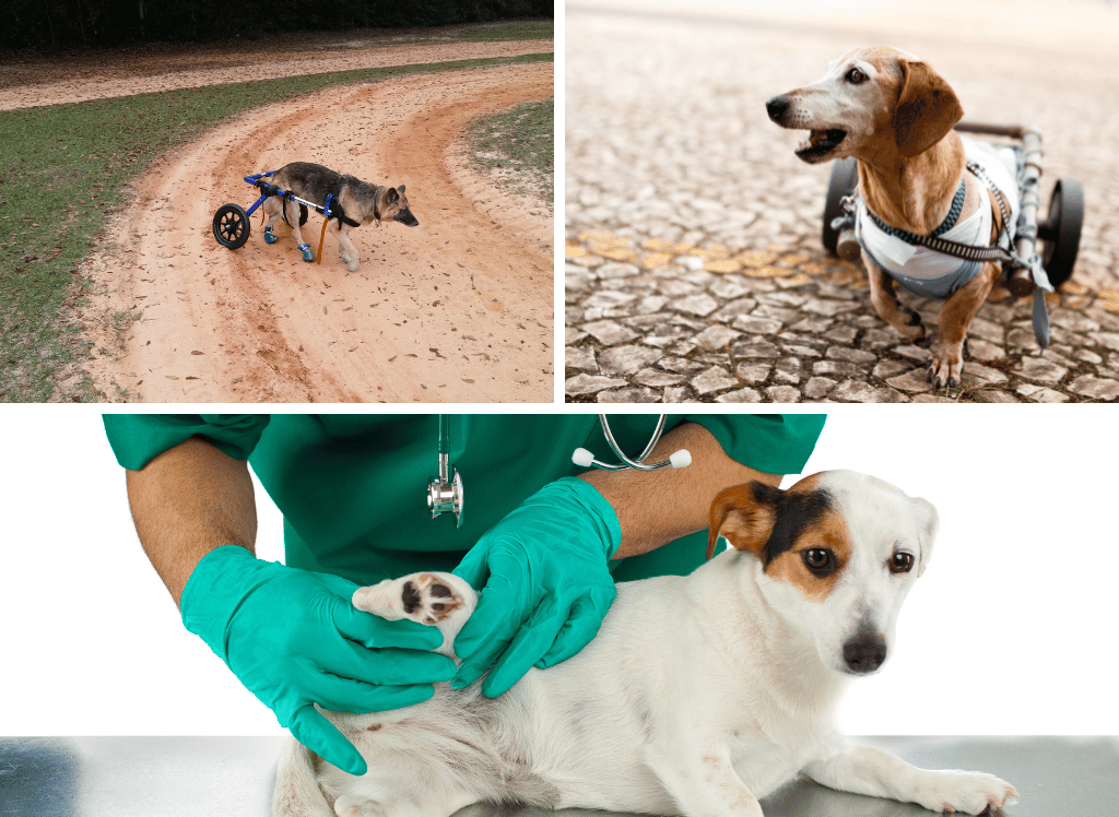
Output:
<path fill-rule="evenodd" d="M 497 697 L 530 667 L 590 644 L 614 600 L 606 565 L 621 538 L 610 503 L 574 477 L 544 486 L 490 528 L 454 570 L 480 597 L 454 639 L 462 664 L 452 686 L 489 669 L 482 692 Z"/>

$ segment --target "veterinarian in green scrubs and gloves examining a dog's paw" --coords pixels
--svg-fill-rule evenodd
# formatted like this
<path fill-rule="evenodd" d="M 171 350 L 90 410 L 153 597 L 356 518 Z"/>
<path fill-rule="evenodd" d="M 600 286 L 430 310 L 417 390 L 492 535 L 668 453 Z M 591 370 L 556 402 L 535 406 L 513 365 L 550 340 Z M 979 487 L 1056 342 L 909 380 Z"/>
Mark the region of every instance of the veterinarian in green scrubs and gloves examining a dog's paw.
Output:
<path fill-rule="evenodd" d="M 610 421 L 640 452 L 655 415 Z M 649 461 L 677 449 L 692 464 L 589 471 L 586 448 L 613 461 L 593 414 L 454 415 L 450 460 L 464 480 L 461 526 L 432 518 L 436 415 L 105 415 L 126 469 L 137 532 L 198 635 L 304 745 L 354 774 L 356 749 L 316 711 L 380 712 L 467 686 L 489 670 L 496 697 L 533 666 L 594 637 L 614 582 L 686 574 L 705 558 L 711 500 L 753 479 L 798 473 L 819 414 L 669 416 Z M 284 564 L 254 556 L 252 464 L 283 514 Z M 424 497 L 421 497 L 421 492 Z M 354 609 L 359 585 L 453 571 L 481 591 L 455 640 Z"/>

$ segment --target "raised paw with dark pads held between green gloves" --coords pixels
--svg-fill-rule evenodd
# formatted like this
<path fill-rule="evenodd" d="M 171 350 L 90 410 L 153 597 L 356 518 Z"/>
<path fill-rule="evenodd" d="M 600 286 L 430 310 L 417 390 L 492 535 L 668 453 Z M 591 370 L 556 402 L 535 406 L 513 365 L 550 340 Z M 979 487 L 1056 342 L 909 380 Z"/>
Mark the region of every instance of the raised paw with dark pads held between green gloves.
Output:
<path fill-rule="evenodd" d="M 461 613 L 466 620 L 474 609 L 477 594 L 451 573 L 413 573 L 380 584 L 358 588 L 354 607 L 386 619 L 412 619 L 438 626 Z"/>

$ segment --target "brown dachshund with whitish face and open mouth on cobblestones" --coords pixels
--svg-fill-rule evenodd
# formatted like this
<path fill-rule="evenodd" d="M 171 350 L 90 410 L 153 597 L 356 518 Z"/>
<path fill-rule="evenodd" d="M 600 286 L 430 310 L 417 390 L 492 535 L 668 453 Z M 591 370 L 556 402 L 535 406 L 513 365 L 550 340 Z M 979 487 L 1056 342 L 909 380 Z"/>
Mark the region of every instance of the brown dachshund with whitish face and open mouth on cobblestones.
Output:
<path fill-rule="evenodd" d="M 875 310 L 908 340 L 924 335 L 921 317 L 899 303 L 894 281 L 916 294 L 947 299 L 929 379 L 959 384 L 968 326 L 997 280 L 997 262 L 965 262 L 909 236 L 940 236 L 990 246 L 1004 235 L 1002 195 L 1014 225 L 1016 184 L 989 145 L 952 128 L 959 98 L 927 63 L 895 48 L 856 48 L 834 60 L 822 78 L 765 103 L 782 128 L 807 130 L 797 156 L 809 163 L 854 157 L 866 218 L 859 243 Z M 968 171 L 981 163 L 991 185 Z M 993 192 L 993 188 L 998 192 Z M 863 216 L 859 213 L 859 216 Z"/>

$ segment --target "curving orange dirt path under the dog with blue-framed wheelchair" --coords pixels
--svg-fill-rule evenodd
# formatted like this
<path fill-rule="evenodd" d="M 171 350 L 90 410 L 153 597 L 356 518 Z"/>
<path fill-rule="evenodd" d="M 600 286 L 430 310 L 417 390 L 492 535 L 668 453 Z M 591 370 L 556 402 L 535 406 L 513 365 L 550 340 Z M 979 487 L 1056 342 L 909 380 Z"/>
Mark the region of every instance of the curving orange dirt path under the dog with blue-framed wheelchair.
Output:
<path fill-rule="evenodd" d="M 95 386 L 144 402 L 551 402 L 551 207 L 472 176 L 457 140 L 552 94 L 552 64 L 331 88 L 163 157 L 86 263 L 105 289 L 86 310 L 95 348 L 123 346 L 87 368 Z M 406 184 L 420 226 L 351 233 L 354 273 L 337 243 L 321 265 L 286 227 L 265 245 L 258 216 L 245 246 L 218 245 L 214 212 L 254 200 L 242 177 L 295 159 Z M 316 247 L 320 226 L 304 227 Z M 139 319 L 119 339 L 122 316 Z"/>

